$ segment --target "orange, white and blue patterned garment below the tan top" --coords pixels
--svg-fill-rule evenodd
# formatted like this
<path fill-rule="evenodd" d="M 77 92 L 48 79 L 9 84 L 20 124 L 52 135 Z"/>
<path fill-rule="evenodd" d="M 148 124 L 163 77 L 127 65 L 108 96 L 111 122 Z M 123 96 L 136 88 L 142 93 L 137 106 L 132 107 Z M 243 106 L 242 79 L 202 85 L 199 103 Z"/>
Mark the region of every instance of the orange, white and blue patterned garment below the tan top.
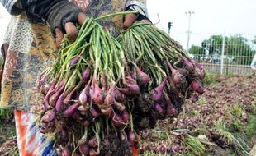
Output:
<path fill-rule="evenodd" d="M 36 114 L 14 111 L 20 156 L 58 156 L 54 141 L 40 133 Z"/>

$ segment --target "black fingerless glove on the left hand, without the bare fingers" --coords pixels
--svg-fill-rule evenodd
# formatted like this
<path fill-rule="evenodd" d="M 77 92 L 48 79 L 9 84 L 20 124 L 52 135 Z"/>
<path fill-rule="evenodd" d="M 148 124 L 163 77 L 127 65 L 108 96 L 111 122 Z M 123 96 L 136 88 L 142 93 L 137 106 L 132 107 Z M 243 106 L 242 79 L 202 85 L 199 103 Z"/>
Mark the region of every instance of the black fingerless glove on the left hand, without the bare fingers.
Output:
<path fill-rule="evenodd" d="M 82 12 L 68 0 L 21 0 L 22 7 L 32 15 L 38 16 L 50 25 L 50 30 L 55 34 L 55 28 L 65 33 L 64 25 L 67 22 L 76 23 L 78 14 Z"/>

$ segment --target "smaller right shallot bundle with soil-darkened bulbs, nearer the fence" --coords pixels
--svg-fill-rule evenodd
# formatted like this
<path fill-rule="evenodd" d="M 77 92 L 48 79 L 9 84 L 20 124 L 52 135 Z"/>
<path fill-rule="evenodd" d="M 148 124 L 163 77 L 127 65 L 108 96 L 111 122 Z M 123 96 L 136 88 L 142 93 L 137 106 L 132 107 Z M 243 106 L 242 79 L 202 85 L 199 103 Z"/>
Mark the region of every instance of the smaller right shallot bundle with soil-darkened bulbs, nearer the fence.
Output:
<path fill-rule="evenodd" d="M 178 115 L 184 99 L 193 92 L 204 92 L 201 80 L 205 71 L 201 65 L 154 25 L 135 23 L 119 36 L 119 41 L 125 50 L 130 76 L 140 85 L 132 112 L 136 122 L 148 122 L 154 127 L 157 119 Z"/>

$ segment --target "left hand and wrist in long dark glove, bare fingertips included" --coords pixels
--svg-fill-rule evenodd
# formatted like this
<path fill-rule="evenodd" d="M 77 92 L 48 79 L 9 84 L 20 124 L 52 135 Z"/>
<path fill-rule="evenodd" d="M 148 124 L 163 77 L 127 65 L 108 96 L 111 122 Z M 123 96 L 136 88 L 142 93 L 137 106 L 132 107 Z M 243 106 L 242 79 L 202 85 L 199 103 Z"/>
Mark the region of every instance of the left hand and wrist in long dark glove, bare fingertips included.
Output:
<path fill-rule="evenodd" d="M 86 16 L 68 0 L 21 0 L 25 11 L 39 16 L 50 25 L 59 47 L 64 34 L 75 40 L 78 35 L 76 24 L 83 25 Z"/>

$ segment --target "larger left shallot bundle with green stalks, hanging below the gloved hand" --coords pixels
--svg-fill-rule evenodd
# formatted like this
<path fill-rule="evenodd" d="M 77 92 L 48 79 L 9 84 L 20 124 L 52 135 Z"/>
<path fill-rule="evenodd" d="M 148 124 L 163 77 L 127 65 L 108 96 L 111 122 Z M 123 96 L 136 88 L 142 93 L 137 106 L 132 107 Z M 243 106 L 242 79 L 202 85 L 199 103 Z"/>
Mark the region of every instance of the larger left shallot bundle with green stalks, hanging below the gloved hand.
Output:
<path fill-rule="evenodd" d="M 40 131 L 54 135 L 65 156 L 130 155 L 137 141 L 122 91 L 135 96 L 139 85 L 126 75 L 121 45 L 97 20 L 88 18 L 74 43 L 65 38 L 38 82 L 44 94 Z"/>

